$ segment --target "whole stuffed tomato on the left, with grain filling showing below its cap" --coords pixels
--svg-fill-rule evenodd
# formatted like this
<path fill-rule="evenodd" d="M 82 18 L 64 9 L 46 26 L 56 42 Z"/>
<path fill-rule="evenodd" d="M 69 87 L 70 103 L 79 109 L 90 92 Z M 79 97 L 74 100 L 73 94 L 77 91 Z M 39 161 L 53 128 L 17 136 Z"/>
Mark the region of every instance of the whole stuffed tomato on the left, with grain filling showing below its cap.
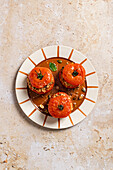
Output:
<path fill-rule="evenodd" d="M 54 86 L 54 77 L 49 68 L 35 67 L 27 77 L 28 87 L 38 93 L 44 94 L 52 90 Z"/>

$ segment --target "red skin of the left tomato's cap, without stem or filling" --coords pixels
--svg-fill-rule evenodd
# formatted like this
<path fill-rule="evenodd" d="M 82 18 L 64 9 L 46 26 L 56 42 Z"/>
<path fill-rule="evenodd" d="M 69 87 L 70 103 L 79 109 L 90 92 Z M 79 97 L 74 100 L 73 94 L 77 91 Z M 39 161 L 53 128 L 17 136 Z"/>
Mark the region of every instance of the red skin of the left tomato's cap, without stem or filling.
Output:
<path fill-rule="evenodd" d="M 40 73 L 40 71 L 43 75 L 41 80 L 37 78 L 37 73 Z M 43 88 L 44 86 L 48 85 L 51 82 L 52 77 L 53 75 L 51 70 L 46 67 L 35 67 L 28 75 L 31 85 L 36 88 Z"/>

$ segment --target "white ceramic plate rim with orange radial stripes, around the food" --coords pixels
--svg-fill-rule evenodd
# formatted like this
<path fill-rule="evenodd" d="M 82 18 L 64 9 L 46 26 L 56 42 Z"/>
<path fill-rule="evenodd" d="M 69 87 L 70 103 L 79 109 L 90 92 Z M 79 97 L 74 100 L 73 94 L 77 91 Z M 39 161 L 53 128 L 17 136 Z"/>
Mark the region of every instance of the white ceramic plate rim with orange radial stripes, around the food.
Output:
<path fill-rule="evenodd" d="M 42 60 L 51 57 L 64 57 L 81 63 L 86 70 L 87 93 L 80 107 L 66 118 L 56 119 L 42 114 L 29 99 L 27 93 L 27 75 Z M 93 109 L 98 95 L 97 74 L 90 61 L 77 50 L 66 46 L 49 46 L 30 55 L 20 67 L 16 78 L 16 96 L 23 112 L 35 123 L 52 128 L 63 129 L 82 121 Z"/>

